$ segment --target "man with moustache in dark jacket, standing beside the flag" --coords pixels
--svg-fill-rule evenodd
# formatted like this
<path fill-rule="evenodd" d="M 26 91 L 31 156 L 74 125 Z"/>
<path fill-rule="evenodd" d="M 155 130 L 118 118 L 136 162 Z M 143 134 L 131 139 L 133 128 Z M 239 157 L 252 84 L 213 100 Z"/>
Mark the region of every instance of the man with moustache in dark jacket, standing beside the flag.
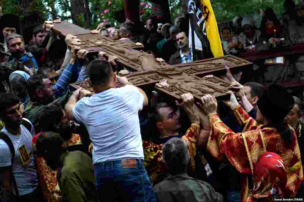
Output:
<path fill-rule="evenodd" d="M 170 57 L 169 64 L 184 64 L 193 62 L 193 53 L 189 48 L 188 33 L 182 31 L 176 35 L 176 42 L 179 50 Z M 195 60 L 203 60 L 212 56 L 204 55 L 202 50 L 195 49 Z"/>

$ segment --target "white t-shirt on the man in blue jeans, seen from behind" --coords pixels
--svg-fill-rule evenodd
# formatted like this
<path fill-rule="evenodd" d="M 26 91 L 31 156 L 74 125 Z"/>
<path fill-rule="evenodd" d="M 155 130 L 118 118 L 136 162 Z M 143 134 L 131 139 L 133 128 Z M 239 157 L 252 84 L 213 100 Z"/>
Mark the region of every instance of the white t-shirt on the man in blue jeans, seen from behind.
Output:
<path fill-rule="evenodd" d="M 122 158 L 143 158 L 138 112 L 144 96 L 133 85 L 82 98 L 74 118 L 85 124 L 93 143 L 93 164 Z"/>

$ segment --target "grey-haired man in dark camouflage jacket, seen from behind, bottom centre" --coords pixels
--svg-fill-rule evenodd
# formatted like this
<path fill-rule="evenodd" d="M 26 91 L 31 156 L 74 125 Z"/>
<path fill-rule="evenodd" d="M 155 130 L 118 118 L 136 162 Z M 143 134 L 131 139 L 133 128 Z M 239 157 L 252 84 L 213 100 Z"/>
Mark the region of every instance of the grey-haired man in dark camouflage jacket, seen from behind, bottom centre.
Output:
<path fill-rule="evenodd" d="M 153 187 L 158 201 L 223 201 L 223 196 L 210 184 L 187 175 L 190 154 L 181 138 L 171 138 L 166 142 L 162 147 L 162 161 L 171 176 Z"/>

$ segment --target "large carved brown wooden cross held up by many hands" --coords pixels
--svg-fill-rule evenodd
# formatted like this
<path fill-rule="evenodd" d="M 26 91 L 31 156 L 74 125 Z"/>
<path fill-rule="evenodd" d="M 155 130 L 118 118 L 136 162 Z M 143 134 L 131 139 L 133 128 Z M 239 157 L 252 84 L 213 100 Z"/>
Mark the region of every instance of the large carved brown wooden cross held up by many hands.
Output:
<path fill-rule="evenodd" d="M 170 87 L 157 88 L 157 90 L 174 97 L 174 99 L 180 99 L 181 94 L 188 92 L 192 93 L 196 99 L 206 94 L 225 97 L 227 92 L 231 90 L 231 83 L 218 77 L 205 78 L 204 76 L 225 74 L 225 66 L 235 72 L 253 64 L 239 57 L 227 55 L 186 64 L 170 65 L 165 62 L 156 62 L 153 55 L 136 50 L 142 46 L 138 46 L 130 40 L 114 41 L 101 37 L 99 34 L 92 34 L 90 30 L 85 30 L 68 22 L 56 23 L 53 30 L 64 36 L 71 33 L 79 38 L 81 49 L 89 52 L 104 51 L 108 57 L 110 55 L 117 56 L 119 58 L 117 62 L 131 71 L 126 77 L 133 85 L 153 88 L 157 82 L 167 79 Z M 75 83 L 71 86 L 74 88 L 83 87 L 93 92 L 92 87 L 87 82 Z"/>

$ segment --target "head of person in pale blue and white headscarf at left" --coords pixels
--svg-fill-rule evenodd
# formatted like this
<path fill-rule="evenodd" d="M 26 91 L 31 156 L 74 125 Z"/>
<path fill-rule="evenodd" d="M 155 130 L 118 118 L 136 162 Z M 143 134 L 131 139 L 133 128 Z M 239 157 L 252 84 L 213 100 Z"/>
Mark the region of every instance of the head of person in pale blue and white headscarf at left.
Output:
<path fill-rule="evenodd" d="M 20 99 L 21 103 L 24 103 L 24 108 L 29 100 L 26 89 L 26 82 L 29 77 L 30 76 L 24 71 L 13 71 L 9 75 L 12 94 L 16 95 Z"/>

